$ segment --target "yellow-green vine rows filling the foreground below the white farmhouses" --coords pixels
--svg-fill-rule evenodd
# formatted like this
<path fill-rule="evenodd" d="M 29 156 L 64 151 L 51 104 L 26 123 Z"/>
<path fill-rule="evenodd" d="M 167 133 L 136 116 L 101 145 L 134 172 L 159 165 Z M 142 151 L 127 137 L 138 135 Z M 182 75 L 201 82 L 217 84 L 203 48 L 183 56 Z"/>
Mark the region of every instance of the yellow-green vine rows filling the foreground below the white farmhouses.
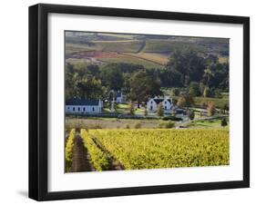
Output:
<path fill-rule="evenodd" d="M 68 160 L 73 133 L 67 141 Z M 218 166 L 230 161 L 225 129 L 81 129 L 77 134 L 96 171 Z"/>

